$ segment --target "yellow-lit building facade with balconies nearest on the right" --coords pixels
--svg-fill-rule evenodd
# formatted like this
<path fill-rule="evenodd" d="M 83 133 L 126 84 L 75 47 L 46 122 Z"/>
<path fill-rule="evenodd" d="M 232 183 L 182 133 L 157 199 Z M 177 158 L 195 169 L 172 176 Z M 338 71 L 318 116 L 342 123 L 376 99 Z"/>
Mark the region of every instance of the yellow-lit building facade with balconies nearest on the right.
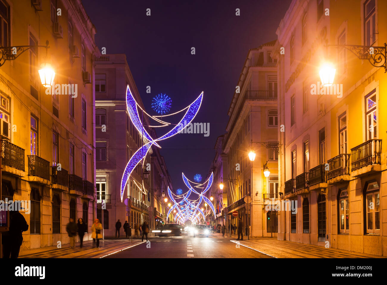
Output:
<path fill-rule="evenodd" d="M 381 0 L 295 0 L 279 24 L 280 240 L 387 254 L 387 77 L 367 59 L 387 41 L 386 11 Z"/>

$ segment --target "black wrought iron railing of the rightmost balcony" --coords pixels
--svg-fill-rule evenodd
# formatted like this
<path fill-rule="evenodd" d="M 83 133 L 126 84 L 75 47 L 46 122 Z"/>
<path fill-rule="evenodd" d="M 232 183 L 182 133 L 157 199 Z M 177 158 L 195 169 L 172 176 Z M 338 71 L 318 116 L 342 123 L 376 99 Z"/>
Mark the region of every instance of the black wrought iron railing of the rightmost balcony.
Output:
<path fill-rule="evenodd" d="M 370 164 L 380 164 L 382 140 L 368 140 L 351 149 L 352 171 Z"/>

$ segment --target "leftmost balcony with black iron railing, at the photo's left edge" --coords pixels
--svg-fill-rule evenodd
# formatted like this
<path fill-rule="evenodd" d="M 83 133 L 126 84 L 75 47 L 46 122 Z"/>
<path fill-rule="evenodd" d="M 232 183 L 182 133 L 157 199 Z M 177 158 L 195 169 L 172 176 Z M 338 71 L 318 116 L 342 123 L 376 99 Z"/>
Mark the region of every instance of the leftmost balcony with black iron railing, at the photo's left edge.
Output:
<path fill-rule="evenodd" d="M 15 174 L 16 176 L 24 176 L 24 149 L 14 145 L 13 143 L 2 141 L 2 165 L 5 167 L 3 171 Z M 22 172 L 21 172 L 22 171 Z"/>

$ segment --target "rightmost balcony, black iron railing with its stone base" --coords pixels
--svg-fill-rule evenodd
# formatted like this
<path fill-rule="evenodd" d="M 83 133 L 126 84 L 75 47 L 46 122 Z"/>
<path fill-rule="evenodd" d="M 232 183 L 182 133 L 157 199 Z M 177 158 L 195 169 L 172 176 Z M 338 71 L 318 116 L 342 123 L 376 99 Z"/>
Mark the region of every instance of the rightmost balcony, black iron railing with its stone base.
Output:
<path fill-rule="evenodd" d="M 353 176 L 362 176 L 381 170 L 382 140 L 368 140 L 351 149 Z"/>

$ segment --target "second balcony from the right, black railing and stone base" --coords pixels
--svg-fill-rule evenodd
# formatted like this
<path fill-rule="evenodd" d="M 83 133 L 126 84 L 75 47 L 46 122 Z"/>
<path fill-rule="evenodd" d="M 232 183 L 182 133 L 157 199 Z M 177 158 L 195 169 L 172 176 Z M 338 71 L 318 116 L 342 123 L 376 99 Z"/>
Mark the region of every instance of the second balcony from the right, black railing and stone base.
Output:
<path fill-rule="evenodd" d="M 328 184 L 336 184 L 340 181 L 349 181 L 349 157 L 350 154 L 339 154 L 328 160 L 327 171 Z"/>

